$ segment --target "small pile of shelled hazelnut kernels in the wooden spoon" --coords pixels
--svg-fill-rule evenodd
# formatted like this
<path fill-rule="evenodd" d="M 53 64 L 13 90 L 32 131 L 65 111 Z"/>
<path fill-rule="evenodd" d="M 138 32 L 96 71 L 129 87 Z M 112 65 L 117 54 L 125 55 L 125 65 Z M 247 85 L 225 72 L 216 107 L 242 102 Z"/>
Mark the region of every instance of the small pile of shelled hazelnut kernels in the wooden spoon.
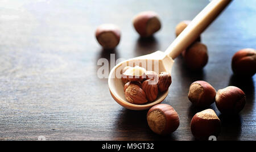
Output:
<path fill-rule="evenodd" d="M 145 104 L 154 102 L 160 92 L 168 90 L 172 83 L 168 72 L 147 71 L 140 66 L 126 66 L 122 69 L 123 91 L 129 103 Z"/>

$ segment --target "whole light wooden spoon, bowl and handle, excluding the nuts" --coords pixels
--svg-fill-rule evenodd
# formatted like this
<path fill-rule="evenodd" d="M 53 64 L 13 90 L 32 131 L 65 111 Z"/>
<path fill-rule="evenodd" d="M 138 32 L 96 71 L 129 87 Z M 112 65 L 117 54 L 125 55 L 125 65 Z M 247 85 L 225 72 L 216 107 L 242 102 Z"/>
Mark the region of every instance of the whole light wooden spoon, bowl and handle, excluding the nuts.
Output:
<path fill-rule="evenodd" d="M 125 66 L 142 66 L 146 70 L 153 70 L 158 73 L 167 71 L 171 73 L 174 60 L 179 54 L 185 50 L 200 36 L 200 34 L 213 22 L 214 19 L 225 9 L 232 0 L 213 0 L 211 1 L 184 29 L 183 32 L 173 41 L 165 52 L 156 51 L 141 57 L 131 58 L 123 61 L 113 67 L 109 74 L 109 90 L 114 100 L 125 108 L 133 110 L 149 109 L 155 104 L 161 103 L 168 91 L 158 95 L 154 102 L 138 105 L 129 103 L 125 99 L 123 91 L 123 83 L 121 80 L 121 70 Z"/>

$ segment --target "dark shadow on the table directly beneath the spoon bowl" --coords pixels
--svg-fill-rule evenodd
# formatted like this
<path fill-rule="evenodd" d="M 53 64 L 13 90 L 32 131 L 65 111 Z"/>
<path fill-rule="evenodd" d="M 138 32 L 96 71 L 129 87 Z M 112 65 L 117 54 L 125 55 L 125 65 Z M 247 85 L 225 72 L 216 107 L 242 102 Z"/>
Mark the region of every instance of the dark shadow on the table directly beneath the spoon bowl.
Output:
<path fill-rule="evenodd" d="M 117 140 L 175 140 L 175 134 L 159 136 L 147 124 L 146 111 L 122 108 L 115 122 L 114 135 Z"/>

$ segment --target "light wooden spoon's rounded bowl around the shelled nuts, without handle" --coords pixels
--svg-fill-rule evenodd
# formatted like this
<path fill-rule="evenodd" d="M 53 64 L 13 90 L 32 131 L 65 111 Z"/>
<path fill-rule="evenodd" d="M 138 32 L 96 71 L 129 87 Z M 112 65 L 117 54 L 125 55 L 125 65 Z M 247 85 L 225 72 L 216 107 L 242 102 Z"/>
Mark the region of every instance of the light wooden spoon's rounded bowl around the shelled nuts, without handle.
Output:
<path fill-rule="evenodd" d="M 132 58 L 130 60 L 123 61 L 116 65 L 109 74 L 109 90 L 110 94 L 113 96 L 114 100 L 125 108 L 133 110 L 144 110 L 149 109 L 155 104 L 161 103 L 166 96 L 168 91 L 162 92 L 158 95 L 158 98 L 154 102 L 148 102 L 146 104 L 133 104 L 127 102 L 125 99 L 125 92 L 123 91 L 123 82 L 121 80 L 121 71 L 125 66 L 141 66 L 146 70 L 155 71 L 160 73 L 162 71 L 167 71 L 171 73 L 171 68 L 174 63 L 171 57 L 161 51 L 156 51 L 152 54 L 146 56 L 141 56 L 137 58 Z"/>

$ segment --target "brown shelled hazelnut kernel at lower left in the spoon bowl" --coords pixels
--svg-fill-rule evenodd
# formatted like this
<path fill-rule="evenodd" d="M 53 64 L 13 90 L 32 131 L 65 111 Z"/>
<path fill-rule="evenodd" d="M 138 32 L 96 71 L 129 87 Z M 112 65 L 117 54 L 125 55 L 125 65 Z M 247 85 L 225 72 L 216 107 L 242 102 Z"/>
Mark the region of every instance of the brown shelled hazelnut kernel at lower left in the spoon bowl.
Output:
<path fill-rule="evenodd" d="M 145 92 L 137 85 L 130 85 L 125 90 L 125 98 L 129 103 L 144 104 L 147 103 Z"/>

